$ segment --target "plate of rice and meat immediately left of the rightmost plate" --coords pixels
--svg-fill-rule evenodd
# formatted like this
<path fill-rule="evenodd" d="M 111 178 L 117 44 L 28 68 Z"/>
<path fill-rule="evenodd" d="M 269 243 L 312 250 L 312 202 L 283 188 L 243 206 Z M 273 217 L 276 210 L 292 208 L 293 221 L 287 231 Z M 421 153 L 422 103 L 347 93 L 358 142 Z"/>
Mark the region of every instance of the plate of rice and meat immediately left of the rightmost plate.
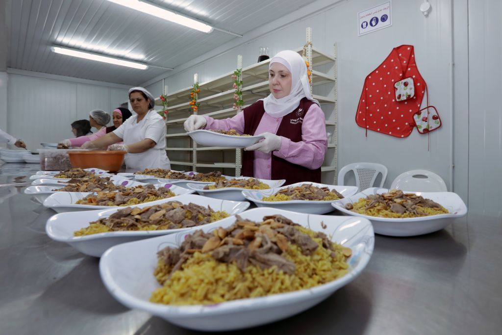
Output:
<path fill-rule="evenodd" d="M 338 193 L 338 194 L 337 194 Z M 331 203 L 357 193 L 356 186 L 337 186 L 299 182 L 259 191 L 242 191 L 242 195 L 258 207 L 274 207 L 308 214 L 324 214 L 333 210 Z"/>

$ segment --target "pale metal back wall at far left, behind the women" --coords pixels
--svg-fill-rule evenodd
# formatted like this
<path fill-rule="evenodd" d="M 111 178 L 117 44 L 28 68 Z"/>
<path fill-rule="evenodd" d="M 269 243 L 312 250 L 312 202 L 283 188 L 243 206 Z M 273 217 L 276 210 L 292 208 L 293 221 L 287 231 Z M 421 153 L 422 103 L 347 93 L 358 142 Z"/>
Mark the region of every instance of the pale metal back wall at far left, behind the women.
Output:
<path fill-rule="evenodd" d="M 100 108 L 111 113 L 127 89 L 9 74 L 7 129 L 29 149 L 73 137 L 70 124 Z M 110 123 L 111 124 L 111 123 Z"/>

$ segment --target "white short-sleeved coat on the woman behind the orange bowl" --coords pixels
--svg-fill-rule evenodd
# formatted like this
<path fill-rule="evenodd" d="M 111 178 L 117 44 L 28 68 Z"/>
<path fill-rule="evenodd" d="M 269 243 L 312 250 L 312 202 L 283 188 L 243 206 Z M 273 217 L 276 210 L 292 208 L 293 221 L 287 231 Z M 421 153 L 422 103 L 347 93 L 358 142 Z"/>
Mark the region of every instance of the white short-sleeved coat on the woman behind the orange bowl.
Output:
<path fill-rule="evenodd" d="M 166 154 L 166 124 L 164 119 L 154 109 L 150 109 L 139 123 L 138 115 L 126 120 L 113 133 L 123 139 L 126 145 L 151 139 L 157 143 L 155 147 L 139 154 L 126 155 L 127 171 L 136 172 L 146 168 L 171 169 Z"/>

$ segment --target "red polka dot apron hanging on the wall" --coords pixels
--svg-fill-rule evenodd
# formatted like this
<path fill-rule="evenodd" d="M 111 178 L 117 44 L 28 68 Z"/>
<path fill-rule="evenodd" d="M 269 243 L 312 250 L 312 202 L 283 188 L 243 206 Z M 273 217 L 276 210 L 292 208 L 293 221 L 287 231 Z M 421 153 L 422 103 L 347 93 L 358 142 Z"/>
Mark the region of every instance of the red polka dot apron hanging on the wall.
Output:
<path fill-rule="evenodd" d="M 398 91 L 395 84 L 408 86 L 411 80 L 413 95 L 402 95 L 403 86 Z M 420 109 L 425 87 L 415 63 L 413 45 L 394 48 L 384 62 L 366 76 L 355 122 L 366 129 L 366 136 L 367 130 L 372 130 L 399 138 L 408 137 L 415 127 L 413 115 Z"/>

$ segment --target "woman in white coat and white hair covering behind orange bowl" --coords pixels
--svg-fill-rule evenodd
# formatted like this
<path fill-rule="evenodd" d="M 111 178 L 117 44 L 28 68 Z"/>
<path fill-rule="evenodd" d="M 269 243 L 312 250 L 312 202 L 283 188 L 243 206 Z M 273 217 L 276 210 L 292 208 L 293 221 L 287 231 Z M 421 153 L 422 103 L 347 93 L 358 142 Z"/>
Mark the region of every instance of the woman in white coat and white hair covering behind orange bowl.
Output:
<path fill-rule="evenodd" d="M 83 149 L 108 147 L 108 150 L 123 150 L 127 171 L 146 168 L 170 169 L 166 155 L 166 126 L 154 109 L 155 98 L 143 87 L 129 90 L 129 101 L 137 115 L 129 118 L 120 127 L 105 136 L 85 143 Z M 115 144 L 123 141 L 123 144 Z"/>

